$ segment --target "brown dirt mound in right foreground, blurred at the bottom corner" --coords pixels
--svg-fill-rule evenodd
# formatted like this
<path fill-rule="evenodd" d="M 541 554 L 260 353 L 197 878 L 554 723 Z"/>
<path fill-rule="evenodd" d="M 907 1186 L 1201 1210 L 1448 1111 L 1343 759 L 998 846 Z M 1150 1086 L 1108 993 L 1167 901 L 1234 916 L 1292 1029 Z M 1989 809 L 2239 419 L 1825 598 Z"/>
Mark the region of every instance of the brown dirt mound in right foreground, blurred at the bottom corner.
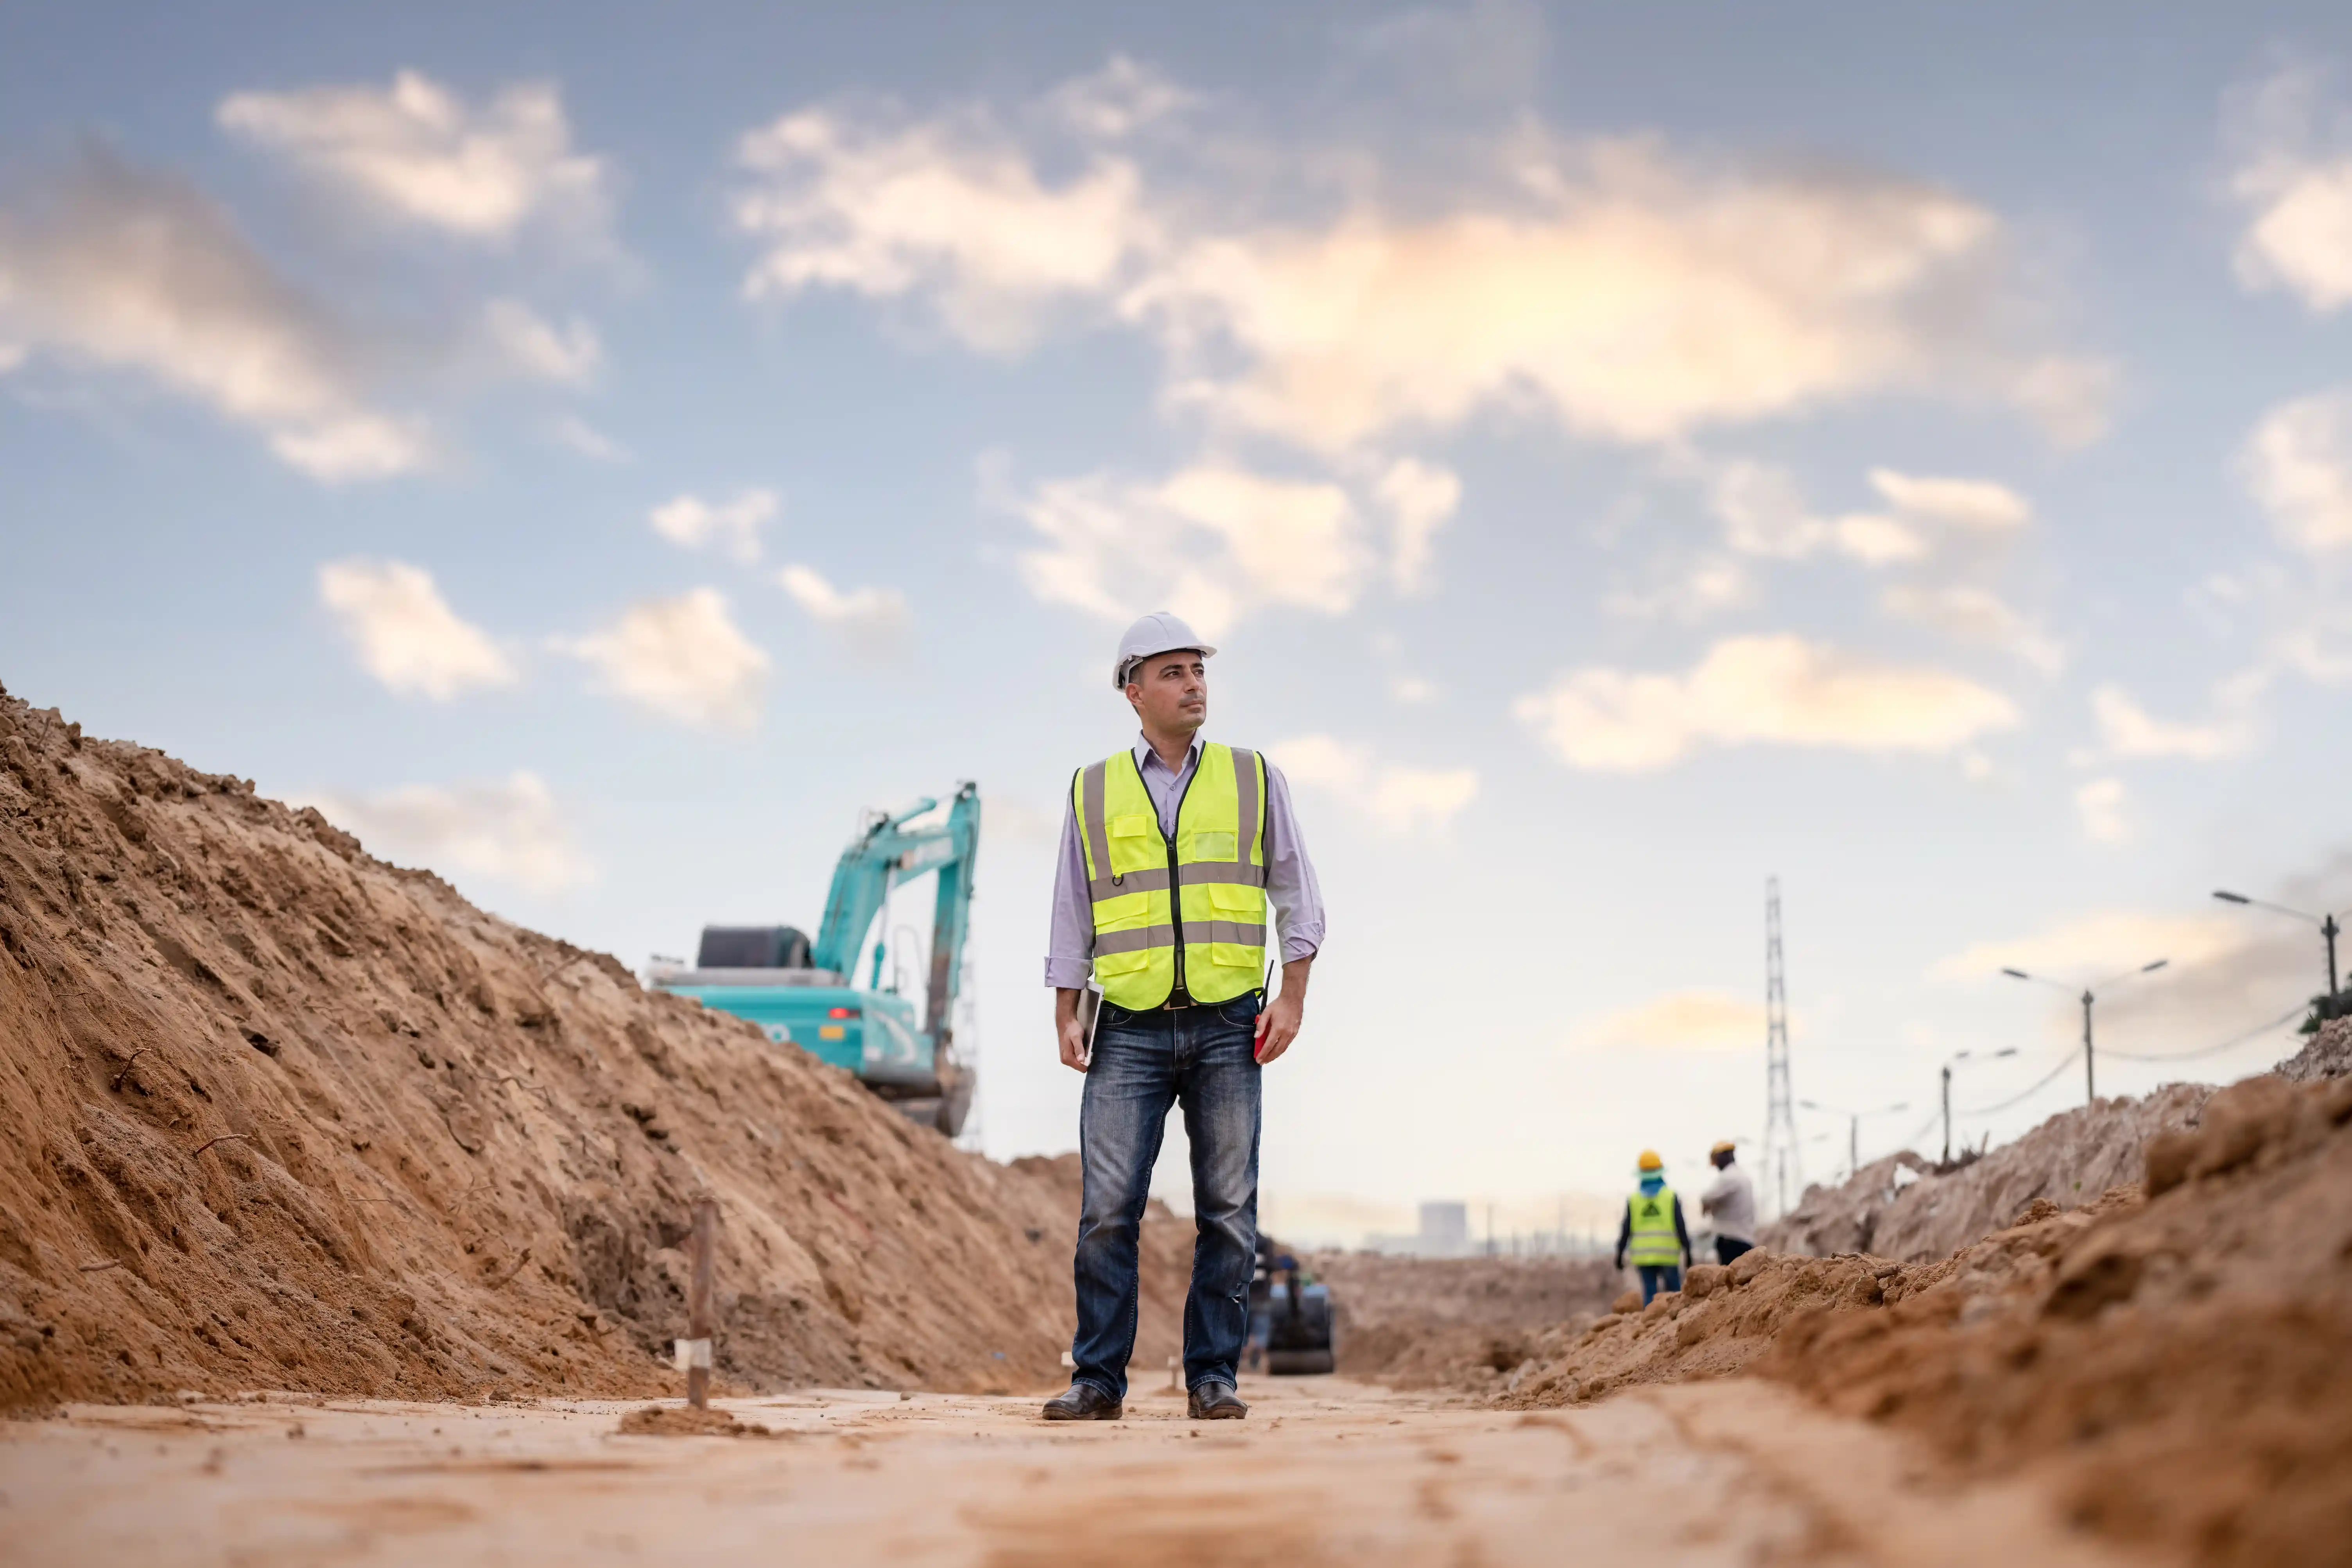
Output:
<path fill-rule="evenodd" d="M 1957 1258 L 1755 1253 L 1557 1335 L 1503 1403 L 1748 1368 L 2032 1465 L 2074 1516 L 2201 1563 L 2352 1563 L 2352 1079 L 2249 1079 L 2117 1187 Z"/>

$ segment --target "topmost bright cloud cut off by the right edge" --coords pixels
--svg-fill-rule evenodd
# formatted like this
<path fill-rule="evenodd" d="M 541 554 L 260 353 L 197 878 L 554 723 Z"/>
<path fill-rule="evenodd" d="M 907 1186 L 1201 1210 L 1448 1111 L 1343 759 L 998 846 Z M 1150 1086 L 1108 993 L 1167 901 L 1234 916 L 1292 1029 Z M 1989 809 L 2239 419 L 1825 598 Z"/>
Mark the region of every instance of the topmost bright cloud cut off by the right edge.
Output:
<path fill-rule="evenodd" d="M 2286 289 L 2328 315 L 2352 303 L 2352 132 L 2324 103 L 2324 80 L 2288 66 L 2237 94 L 2237 169 L 2230 193 L 2246 209 L 2237 280 Z"/>

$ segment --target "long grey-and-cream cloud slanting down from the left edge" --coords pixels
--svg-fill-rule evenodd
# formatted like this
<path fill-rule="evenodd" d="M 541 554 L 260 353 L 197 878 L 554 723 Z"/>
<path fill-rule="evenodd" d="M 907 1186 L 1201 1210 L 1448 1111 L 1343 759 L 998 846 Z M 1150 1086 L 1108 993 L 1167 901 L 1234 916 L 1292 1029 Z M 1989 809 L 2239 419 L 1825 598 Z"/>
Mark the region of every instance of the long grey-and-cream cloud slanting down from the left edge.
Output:
<path fill-rule="evenodd" d="M 367 400 L 376 355 L 360 334 L 278 277 L 202 195 L 106 153 L 82 155 L 31 212 L 0 214 L 0 329 L 193 397 L 315 480 L 381 480 L 433 458 L 419 421 Z"/>

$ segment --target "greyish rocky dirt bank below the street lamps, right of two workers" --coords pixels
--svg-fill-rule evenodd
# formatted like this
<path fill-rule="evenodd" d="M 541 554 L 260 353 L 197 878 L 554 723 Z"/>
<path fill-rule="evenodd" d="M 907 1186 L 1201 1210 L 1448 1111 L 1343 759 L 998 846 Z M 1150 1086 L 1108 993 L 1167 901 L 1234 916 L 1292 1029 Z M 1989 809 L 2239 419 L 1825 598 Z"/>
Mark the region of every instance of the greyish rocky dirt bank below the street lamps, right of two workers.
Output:
<path fill-rule="evenodd" d="M 2211 1093 L 2204 1084 L 2169 1084 L 2150 1095 L 2058 1112 L 2016 1143 L 1945 1173 L 1903 1150 L 1837 1187 L 1806 1187 L 1804 1201 L 1766 1225 L 1759 1241 L 1776 1253 L 1813 1258 L 1950 1258 L 2009 1225 L 2034 1199 L 2089 1204 L 2107 1187 L 2138 1180 L 2147 1143 L 2197 1126 Z"/>

